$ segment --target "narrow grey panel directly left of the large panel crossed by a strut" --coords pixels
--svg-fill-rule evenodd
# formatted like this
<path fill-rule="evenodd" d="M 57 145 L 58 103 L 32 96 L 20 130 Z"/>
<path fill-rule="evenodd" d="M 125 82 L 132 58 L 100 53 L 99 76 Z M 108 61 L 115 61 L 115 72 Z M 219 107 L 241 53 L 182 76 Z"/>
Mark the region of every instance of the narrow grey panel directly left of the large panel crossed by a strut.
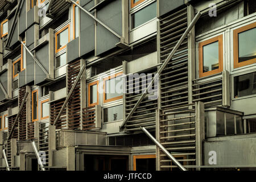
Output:
<path fill-rule="evenodd" d="M 86 28 L 80 34 L 81 56 L 94 50 L 94 26 Z"/>

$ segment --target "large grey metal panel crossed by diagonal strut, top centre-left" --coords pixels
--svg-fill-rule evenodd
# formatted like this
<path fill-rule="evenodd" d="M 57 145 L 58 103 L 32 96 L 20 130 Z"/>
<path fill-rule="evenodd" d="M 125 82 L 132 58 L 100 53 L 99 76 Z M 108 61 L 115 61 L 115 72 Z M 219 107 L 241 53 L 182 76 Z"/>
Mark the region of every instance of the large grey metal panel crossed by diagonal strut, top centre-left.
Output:
<path fill-rule="evenodd" d="M 97 18 L 112 28 L 117 34 L 122 35 L 122 1 L 115 0 L 97 11 Z M 112 32 L 97 24 L 97 53 L 100 55 L 115 47 L 120 42 Z"/>

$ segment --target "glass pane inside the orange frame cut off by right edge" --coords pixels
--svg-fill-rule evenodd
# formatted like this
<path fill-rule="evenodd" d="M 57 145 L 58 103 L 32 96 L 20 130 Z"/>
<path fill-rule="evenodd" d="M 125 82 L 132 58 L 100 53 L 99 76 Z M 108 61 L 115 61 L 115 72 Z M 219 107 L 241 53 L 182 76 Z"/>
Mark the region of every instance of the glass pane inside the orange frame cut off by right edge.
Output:
<path fill-rule="evenodd" d="M 238 62 L 256 58 L 256 28 L 238 34 Z"/>

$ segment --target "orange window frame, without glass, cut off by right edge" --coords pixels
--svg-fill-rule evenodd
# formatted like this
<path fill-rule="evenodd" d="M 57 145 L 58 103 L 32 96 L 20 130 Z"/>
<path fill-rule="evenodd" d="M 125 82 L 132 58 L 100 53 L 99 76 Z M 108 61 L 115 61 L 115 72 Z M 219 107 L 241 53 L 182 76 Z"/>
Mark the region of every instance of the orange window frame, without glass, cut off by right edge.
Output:
<path fill-rule="evenodd" d="M 255 59 L 250 59 L 250 60 L 247 60 L 247 61 L 242 61 L 241 63 L 238 62 L 238 60 L 239 60 L 238 34 L 240 34 L 241 32 L 250 30 L 252 28 L 255 28 L 255 27 L 256 27 L 256 22 L 248 24 L 247 26 L 243 26 L 241 28 L 237 28 L 236 30 L 233 31 L 234 68 L 240 68 L 240 67 L 244 67 L 244 66 L 249 65 L 249 64 L 256 63 L 256 58 Z"/>

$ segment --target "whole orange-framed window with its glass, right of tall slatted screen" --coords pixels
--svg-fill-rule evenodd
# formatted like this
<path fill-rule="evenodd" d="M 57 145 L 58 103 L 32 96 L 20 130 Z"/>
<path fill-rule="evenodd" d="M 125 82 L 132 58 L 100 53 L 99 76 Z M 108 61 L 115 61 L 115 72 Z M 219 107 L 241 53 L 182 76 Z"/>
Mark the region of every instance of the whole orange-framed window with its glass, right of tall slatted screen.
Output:
<path fill-rule="evenodd" d="M 223 69 L 223 36 L 199 43 L 199 77 L 214 75 Z"/>

